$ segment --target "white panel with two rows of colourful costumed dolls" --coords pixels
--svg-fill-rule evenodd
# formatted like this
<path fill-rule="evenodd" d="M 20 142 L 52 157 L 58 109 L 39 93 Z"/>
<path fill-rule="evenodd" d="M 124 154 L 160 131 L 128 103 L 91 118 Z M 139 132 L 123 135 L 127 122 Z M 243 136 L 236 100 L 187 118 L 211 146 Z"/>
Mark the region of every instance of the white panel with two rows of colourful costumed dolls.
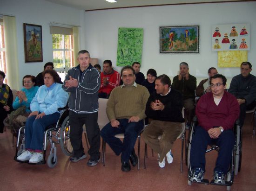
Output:
<path fill-rule="evenodd" d="M 213 25 L 211 29 L 212 51 L 249 51 L 250 25 Z"/>

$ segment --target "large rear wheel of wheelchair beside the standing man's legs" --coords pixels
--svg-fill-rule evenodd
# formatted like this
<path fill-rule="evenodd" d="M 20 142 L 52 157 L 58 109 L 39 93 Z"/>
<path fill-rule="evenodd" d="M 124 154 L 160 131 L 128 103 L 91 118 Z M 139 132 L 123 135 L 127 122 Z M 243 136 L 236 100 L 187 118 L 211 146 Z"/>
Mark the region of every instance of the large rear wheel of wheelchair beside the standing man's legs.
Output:
<path fill-rule="evenodd" d="M 69 116 L 67 116 L 61 124 L 61 150 L 67 156 L 71 156 L 73 153 L 73 147 L 70 142 L 70 126 Z"/>

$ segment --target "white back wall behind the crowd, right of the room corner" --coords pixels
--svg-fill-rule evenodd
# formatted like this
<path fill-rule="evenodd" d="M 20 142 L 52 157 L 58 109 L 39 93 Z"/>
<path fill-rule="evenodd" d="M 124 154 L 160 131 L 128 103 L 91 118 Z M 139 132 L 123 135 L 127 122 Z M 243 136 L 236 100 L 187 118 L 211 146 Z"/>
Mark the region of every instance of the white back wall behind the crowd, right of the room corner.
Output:
<path fill-rule="evenodd" d="M 217 52 L 211 51 L 211 25 L 249 23 L 250 51 L 248 61 L 256 66 L 256 2 L 212 3 L 177 6 L 153 6 L 85 13 L 86 48 L 92 57 L 112 60 L 116 65 L 118 27 L 144 29 L 141 71 L 154 68 L 158 75 L 177 75 L 179 64 L 187 62 L 190 74 L 207 76 L 209 67 L 217 68 Z M 160 54 L 159 26 L 200 25 L 199 54 Z M 252 74 L 256 75 L 256 67 Z M 121 70 L 120 67 L 115 67 Z M 217 68 L 219 73 L 232 77 L 239 68 Z"/>

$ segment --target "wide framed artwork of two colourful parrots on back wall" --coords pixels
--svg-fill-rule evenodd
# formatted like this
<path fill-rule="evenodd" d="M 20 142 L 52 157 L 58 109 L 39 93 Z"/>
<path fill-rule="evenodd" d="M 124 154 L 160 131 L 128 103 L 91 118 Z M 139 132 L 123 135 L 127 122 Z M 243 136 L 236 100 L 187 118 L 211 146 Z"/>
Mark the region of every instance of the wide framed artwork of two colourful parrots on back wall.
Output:
<path fill-rule="evenodd" d="M 160 53 L 199 53 L 199 25 L 160 26 Z"/>

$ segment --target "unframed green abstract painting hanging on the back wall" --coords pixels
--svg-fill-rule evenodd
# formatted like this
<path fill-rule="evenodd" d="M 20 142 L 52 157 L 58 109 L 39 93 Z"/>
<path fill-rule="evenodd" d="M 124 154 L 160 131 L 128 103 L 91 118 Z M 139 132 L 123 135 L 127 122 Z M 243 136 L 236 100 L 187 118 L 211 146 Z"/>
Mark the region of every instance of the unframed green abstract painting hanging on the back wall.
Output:
<path fill-rule="evenodd" d="M 143 44 L 143 29 L 119 28 L 117 45 L 117 66 L 132 65 L 133 62 L 141 63 Z"/>

